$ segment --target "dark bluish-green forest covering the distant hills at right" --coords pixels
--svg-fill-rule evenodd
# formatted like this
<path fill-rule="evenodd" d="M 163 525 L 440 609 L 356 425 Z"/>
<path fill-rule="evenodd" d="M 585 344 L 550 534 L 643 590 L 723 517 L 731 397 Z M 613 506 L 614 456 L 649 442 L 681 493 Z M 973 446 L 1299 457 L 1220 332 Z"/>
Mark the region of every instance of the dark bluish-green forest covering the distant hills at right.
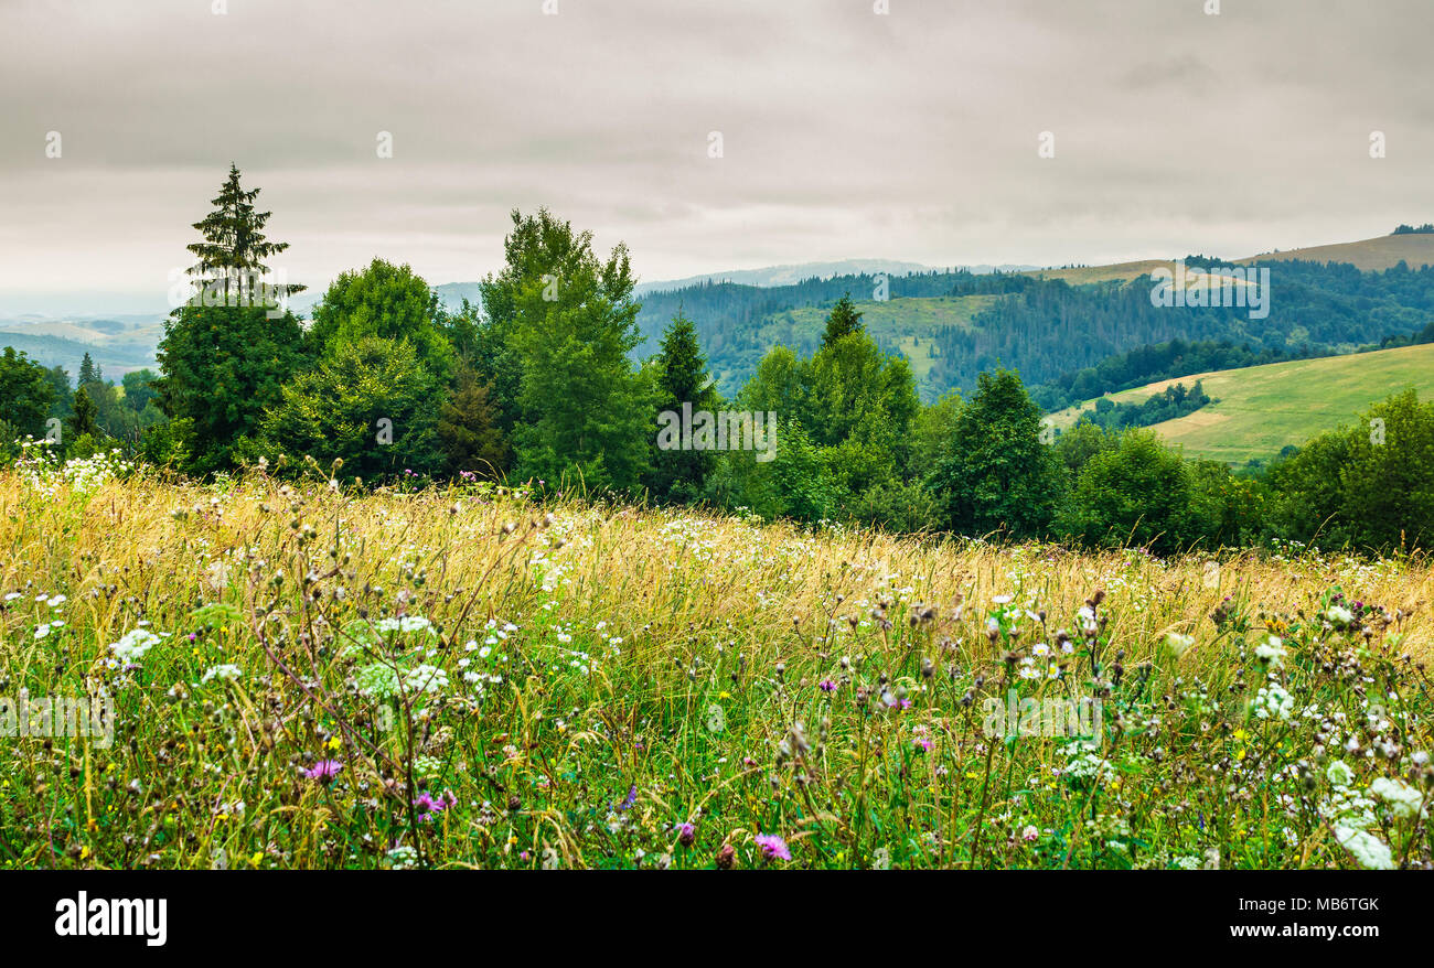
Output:
<path fill-rule="evenodd" d="M 1186 257 L 1187 267 L 1220 265 L 1205 255 Z M 946 390 L 974 389 L 977 376 L 995 367 L 1017 370 L 1032 384 L 1070 387 L 1081 371 L 1100 367 L 1113 357 L 1140 351 L 1131 347 L 1167 344 L 1186 347 L 1180 353 L 1207 357 L 1199 367 L 1169 364 L 1162 371 L 1147 367 L 1149 379 L 1101 377 L 1097 393 L 1084 393 L 1086 380 L 1074 396 L 1043 394 L 1043 406 L 1061 409 L 1114 389 L 1139 386 L 1156 379 L 1189 376 L 1252 361 L 1279 360 L 1354 351 L 1361 347 L 1408 341 L 1431 326 L 1434 317 L 1434 267 L 1411 270 L 1402 262 L 1382 272 L 1362 272 L 1352 265 L 1302 261 L 1271 262 L 1269 315 L 1250 318 L 1243 307 L 1153 305 L 1150 280 L 1070 285 L 1021 274 L 928 272 L 891 277 L 886 297 L 931 298 L 989 295 L 969 326 L 949 326 L 923 333 L 923 351 L 932 359 L 926 399 Z M 868 303 L 882 280 L 846 275 L 807 280 L 797 285 L 754 287 L 704 283 L 644 297 L 638 323 L 651 343 L 678 310 L 693 320 L 713 370 L 730 374 L 724 389 L 740 386 L 773 340 L 810 353 L 820 338 L 817 326 L 804 330 L 783 327 L 794 307 L 830 308 L 850 295 Z M 1190 346 L 1199 344 L 1199 346 Z M 1219 359 L 1213 347 L 1239 347 L 1240 354 Z M 883 348 L 893 348 L 889 344 Z M 1139 363 L 1139 361 L 1137 361 Z M 1114 364 L 1107 364 L 1107 370 Z"/>

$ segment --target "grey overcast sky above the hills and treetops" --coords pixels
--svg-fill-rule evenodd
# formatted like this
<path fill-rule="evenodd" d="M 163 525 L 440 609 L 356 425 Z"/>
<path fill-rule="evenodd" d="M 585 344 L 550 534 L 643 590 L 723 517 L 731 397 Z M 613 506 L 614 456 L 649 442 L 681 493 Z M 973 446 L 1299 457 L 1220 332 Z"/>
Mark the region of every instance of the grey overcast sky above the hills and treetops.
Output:
<path fill-rule="evenodd" d="M 0 0 L 0 311 L 163 310 L 231 161 L 293 244 L 275 264 L 320 287 L 374 255 L 476 280 L 538 205 L 644 280 L 1235 258 L 1434 221 L 1431 0 L 215 6 Z"/>

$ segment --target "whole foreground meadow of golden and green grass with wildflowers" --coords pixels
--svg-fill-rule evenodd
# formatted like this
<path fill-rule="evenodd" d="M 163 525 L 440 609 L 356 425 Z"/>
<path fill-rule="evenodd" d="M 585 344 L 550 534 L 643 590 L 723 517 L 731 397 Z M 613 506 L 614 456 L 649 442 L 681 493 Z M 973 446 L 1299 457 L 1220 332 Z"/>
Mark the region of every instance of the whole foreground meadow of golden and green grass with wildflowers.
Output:
<path fill-rule="evenodd" d="M 1427 558 L 113 470 L 0 473 L 0 697 L 113 708 L 0 866 L 1431 863 Z"/>

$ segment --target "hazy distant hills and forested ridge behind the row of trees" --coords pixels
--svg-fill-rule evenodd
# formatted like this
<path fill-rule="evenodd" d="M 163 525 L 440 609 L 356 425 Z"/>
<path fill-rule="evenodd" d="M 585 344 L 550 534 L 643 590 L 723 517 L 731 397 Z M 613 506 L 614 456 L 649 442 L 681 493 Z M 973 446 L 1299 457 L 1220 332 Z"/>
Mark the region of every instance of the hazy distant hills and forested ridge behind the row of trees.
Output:
<path fill-rule="evenodd" d="M 1196 257 L 1192 257 L 1196 258 Z M 1213 261 L 1213 260 L 1212 260 Z M 825 307 L 850 293 L 865 324 L 891 353 L 912 364 L 926 399 L 968 387 L 995 366 L 1018 369 L 1027 383 L 1071 373 L 1100 359 L 1170 338 L 1232 340 L 1312 356 L 1348 353 L 1390 336 L 1418 331 L 1434 318 L 1434 234 L 1391 234 L 1355 242 L 1272 251 L 1233 264 L 1286 264 L 1275 274 L 1275 311 L 1263 323 L 1233 311 L 1160 311 L 1141 277 L 1170 260 L 1097 267 L 975 265 L 852 258 L 710 272 L 638 285 L 640 353 L 678 310 L 694 320 L 721 389 L 736 393 L 767 348 L 810 351 Z M 1326 267 L 1336 262 L 1338 267 Z M 1410 278 L 1388 275 L 1404 264 Z M 885 274 L 888 297 L 878 294 Z M 478 283 L 435 287 L 452 310 L 479 303 Z M 291 305 L 307 315 L 323 297 L 313 285 Z M 4 303 L 0 300 L 0 307 Z M 130 308 L 126 300 L 123 308 Z M 73 373 L 89 353 L 105 376 L 155 366 L 165 305 L 152 313 L 46 315 L 0 310 L 0 344 Z"/>

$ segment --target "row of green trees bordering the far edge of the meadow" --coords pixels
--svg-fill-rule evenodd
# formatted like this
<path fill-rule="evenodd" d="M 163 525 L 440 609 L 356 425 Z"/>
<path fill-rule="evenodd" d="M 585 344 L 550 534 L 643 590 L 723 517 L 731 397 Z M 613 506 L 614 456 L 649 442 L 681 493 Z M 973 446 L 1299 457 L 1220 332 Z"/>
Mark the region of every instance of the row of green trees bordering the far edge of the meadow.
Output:
<path fill-rule="evenodd" d="M 231 169 L 195 224 L 196 287 L 228 293 L 229 280 L 268 271 L 284 251 L 264 234 L 271 214 L 257 211 L 257 195 Z M 812 351 L 767 348 L 726 399 L 681 304 L 657 351 L 634 361 L 642 307 L 624 245 L 604 255 L 546 209 L 515 211 L 503 257 L 479 304 L 459 310 L 380 258 L 340 274 L 307 324 L 262 301 L 185 303 L 166 323 L 158 377 L 129 374 L 116 389 L 93 367 L 80 374 L 66 447 L 129 433 L 148 462 L 195 476 L 261 463 L 288 473 L 311 459 L 364 483 L 526 482 L 769 519 L 1157 554 L 1271 539 L 1390 551 L 1434 538 L 1434 404 L 1412 392 L 1238 475 L 1186 460 L 1140 427 L 1087 420 L 1054 435 L 1002 367 L 979 373 L 969 396 L 922 402 L 909 363 L 882 351 L 849 294 Z M 1225 344 L 1172 341 L 1136 366 L 1210 346 Z M 23 354 L 0 359 L 0 400 L 22 402 L 7 403 L 14 429 L 43 432 L 57 381 Z M 106 423 L 109 392 L 153 419 L 133 432 Z M 1192 404 L 1183 387 L 1176 396 L 1156 406 Z M 684 410 L 776 414 L 774 459 L 658 446 L 658 414 Z"/>

